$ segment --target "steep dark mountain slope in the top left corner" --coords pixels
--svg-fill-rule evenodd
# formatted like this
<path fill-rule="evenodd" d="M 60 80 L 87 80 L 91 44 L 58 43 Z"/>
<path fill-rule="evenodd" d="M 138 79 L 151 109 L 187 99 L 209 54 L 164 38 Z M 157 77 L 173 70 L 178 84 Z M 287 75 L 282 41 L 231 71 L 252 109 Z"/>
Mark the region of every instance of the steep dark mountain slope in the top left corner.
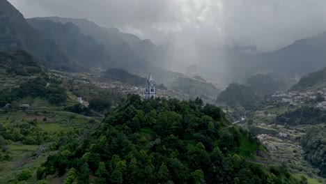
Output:
<path fill-rule="evenodd" d="M 65 54 L 52 40 L 42 38 L 8 1 L 0 1 L 0 49 L 22 49 L 31 53 L 44 66 L 68 68 Z"/>

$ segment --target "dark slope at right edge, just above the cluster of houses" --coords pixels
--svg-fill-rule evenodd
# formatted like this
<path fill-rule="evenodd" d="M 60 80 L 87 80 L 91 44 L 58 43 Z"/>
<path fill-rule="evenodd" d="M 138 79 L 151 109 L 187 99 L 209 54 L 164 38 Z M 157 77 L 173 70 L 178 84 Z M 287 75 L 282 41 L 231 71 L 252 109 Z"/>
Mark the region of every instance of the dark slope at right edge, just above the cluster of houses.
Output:
<path fill-rule="evenodd" d="M 308 89 L 320 89 L 326 87 L 326 68 L 311 72 L 308 75 L 302 77 L 300 81 L 292 86 L 290 91 L 304 91 Z"/>

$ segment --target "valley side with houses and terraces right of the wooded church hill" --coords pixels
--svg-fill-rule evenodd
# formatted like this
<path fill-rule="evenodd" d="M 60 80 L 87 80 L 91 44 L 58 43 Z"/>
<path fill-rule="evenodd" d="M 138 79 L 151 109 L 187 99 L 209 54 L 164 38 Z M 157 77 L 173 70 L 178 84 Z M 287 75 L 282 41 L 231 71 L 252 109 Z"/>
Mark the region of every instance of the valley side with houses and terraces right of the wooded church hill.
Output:
<path fill-rule="evenodd" d="M 304 175 L 310 178 L 309 183 L 325 183 L 325 171 L 306 160 L 307 151 L 313 148 L 307 150 L 303 145 L 307 132 L 317 132 L 320 127 L 325 127 L 325 84 L 318 83 L 295 91 L 300 84 L 301 81 L 290 91 L 277 91 L 268 95 L 254 110 L 240 112 L 240 116 L 247 118 L 247 122 L 240 126 L 257 135 L 270 151 L 271 159 L 287 163 L 295 176 Z M 325 153 L 321 154 L 323 157 Z"/>

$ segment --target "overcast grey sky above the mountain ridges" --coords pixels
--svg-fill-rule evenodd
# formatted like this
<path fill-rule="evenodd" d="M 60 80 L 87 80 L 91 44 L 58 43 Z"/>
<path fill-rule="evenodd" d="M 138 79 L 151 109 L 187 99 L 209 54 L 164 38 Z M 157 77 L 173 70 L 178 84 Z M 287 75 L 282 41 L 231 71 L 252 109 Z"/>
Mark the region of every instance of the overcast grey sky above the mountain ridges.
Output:
<path fill-rule="evenodd" d="M 155 43 L 255 45 L 261 51 L 326 30 L 325 0 L 9 0 L 25 17 L 87 18 Z"/>

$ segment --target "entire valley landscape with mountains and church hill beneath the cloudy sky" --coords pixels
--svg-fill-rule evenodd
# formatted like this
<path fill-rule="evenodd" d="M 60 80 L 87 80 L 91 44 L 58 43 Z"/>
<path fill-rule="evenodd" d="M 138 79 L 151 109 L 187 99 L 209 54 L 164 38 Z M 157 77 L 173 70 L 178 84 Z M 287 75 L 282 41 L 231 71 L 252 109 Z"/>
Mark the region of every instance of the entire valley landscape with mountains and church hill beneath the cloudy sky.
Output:
<path fill-rule="evenodd" d="M 208 25 L 152 24 L 173 40 L 160 43 L 130 22 L 26 19 L 10 2 L 0 184 L 326 183 L 326 32 L 263 53 L 190 39 Z"/>

